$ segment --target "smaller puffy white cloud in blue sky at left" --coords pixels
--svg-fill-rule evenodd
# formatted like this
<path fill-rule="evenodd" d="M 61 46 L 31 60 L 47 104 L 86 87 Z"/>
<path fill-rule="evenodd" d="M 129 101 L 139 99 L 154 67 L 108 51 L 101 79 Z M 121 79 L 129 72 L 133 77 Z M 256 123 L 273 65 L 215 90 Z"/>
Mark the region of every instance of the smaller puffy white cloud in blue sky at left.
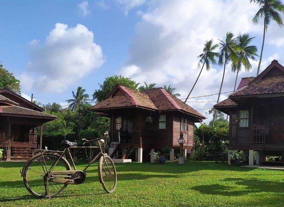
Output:
<path fill-rule="evenodd" d="M 103 63 L 102 49 L 94 43 L 93 32 L 81 24 L 70 28 L 57 23 L 43 44 L 31 47 L 31 60 L 20 80 L 26 89 L 62 92 Z"/>

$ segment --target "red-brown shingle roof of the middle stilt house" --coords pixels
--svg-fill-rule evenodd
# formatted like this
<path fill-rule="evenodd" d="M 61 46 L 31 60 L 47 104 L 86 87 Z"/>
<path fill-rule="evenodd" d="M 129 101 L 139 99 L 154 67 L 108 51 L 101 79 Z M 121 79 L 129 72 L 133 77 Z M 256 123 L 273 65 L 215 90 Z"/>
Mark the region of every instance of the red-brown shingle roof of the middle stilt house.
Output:
<path fill-rule="evenodd" d="M 113 96 L 120 89 L 125 95 Z M 180 110 L 200 119 L 205 119 L 202 114 L 183 103 L 163 88 L 147 89 L 142 92 L 135 91 L 118 85 L 104 101 L 90 108 L 91 111 L 99 109 L 111 109 L 117 107 L 143 107 L 152 110 Z"/>

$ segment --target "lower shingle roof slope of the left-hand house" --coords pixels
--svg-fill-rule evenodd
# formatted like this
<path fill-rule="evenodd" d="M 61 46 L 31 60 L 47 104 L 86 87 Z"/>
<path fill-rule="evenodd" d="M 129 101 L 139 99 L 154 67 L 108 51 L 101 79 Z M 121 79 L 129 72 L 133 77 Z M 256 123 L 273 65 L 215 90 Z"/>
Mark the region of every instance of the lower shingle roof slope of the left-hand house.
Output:
<path fill-rule="evenodd" d="M 46 114 L 43 112 L 39 112 L 36 110 L 20 107 L 20 106 L 0 106 L 0 115 L 1 114 L 14 114 L 14 115 L 30 115 L 30 116 L 38 116 L 38 118 L 48 118 L 55 119 L 56 116 L 52 114 Z"/>

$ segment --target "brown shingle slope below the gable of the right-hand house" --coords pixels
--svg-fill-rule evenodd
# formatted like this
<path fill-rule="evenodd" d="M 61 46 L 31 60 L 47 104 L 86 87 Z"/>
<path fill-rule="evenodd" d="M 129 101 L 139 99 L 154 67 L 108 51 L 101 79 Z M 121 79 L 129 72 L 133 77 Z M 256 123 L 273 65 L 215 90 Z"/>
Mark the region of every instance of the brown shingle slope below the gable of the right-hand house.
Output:
<path fill-rule="evenodd" d="M 284 93 L 284 75 L 266 76 L 261 82 L 251 82 L 230 97 L 272 93 Z"/>

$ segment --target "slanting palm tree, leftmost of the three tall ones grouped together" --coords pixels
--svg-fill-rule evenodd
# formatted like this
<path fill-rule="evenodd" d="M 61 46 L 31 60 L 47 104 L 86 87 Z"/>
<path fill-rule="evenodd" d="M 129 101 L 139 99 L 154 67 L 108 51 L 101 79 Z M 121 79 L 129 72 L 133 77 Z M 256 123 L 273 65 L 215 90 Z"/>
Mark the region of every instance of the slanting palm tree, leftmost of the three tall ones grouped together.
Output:
<path fill-rule="evenodd" d="M 216 57 L 219 57 L 219 53 L 216 53 L 214 52 L 215 49 L 217 49 L 219 45 L 218 44 L 214 44 L 213 45 L 213 40 L 209 40 L 209 41 L 206 41 L 206 43 L 204 44 L 204 48 L 203 48 L 203 53 L 201 55 L 198 56 L 198 58 L 200 58 L 200 61 L 198 63 L 198 68 L 201 66 L 201 64 L 203 63 L 202 67 L 201 67 L 201 70 L 199 72 L 199 75 L 197 76 L 197 79 L 195 81 L 195 83 L 193 84 L 193 87 L 191 88 L 188 96 L 186 97 L 185 99 L 185 103 L 186 101 L 188 100 L 188 97 L 190 96 L 193 88 L 195 87 L 198 79 L 199 79 L 199 76 L 203 70 L 203 67 L 204 67 L 204 64 L 206 63 L 206 70 L 209 71 L 210 68 L 211 68 L 211 64 L 216 64 L 216 60 L 215 58 Z"/>

